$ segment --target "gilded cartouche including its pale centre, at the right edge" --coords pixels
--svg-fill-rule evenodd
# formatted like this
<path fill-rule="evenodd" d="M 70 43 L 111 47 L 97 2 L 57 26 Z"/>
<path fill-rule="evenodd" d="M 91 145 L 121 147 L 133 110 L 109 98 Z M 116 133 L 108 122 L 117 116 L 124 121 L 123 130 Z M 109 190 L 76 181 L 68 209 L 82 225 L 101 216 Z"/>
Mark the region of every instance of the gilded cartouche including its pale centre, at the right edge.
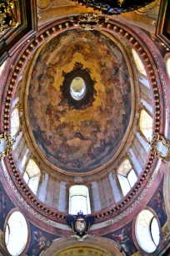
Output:
<path fill-rule="evenodd" d="M 151 146 L 151 151 L 155 156 L 158 156 L 163 161 L 170 161 L 170 142 L 161 136 L 155 134 L 152 141 L 148 141 Z"/>

